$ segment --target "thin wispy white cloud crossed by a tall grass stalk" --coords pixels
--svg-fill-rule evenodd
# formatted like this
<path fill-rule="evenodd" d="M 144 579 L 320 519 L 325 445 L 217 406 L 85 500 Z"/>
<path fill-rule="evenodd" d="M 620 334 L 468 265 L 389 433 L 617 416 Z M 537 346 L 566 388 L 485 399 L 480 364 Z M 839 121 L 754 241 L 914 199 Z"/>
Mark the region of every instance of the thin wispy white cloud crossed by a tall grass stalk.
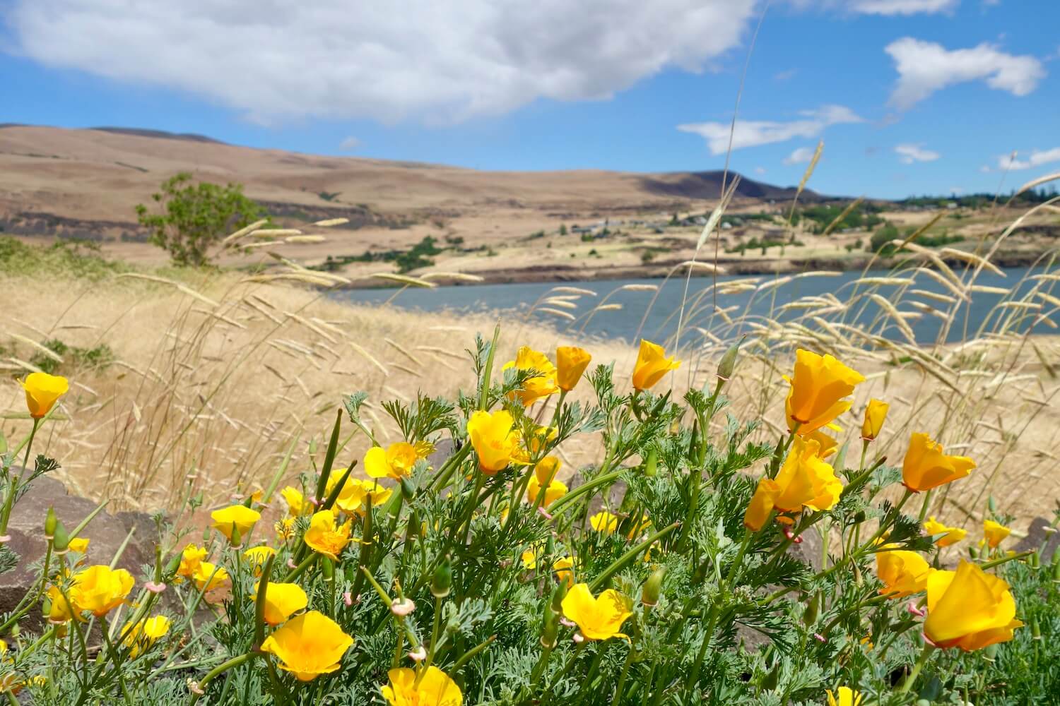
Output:
<path fill-rule="evenodd" d="M 802 120 L 788 123 L 738 120 L 732 133 L 732 149 L 787 142 L 795 138 L 816 138 L 829 125 L 865 122 L 845 106 L 822 106 L 816 110 L 800 111 L 799 115 Z M 730 123 L 686 123 L 678 125 L 677 129 L 702 135 L 711 155 L 724 155 L 728 150 L 730 127 Z"/>

